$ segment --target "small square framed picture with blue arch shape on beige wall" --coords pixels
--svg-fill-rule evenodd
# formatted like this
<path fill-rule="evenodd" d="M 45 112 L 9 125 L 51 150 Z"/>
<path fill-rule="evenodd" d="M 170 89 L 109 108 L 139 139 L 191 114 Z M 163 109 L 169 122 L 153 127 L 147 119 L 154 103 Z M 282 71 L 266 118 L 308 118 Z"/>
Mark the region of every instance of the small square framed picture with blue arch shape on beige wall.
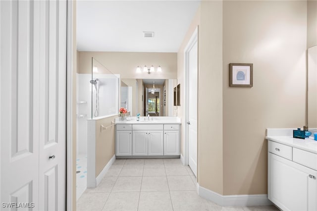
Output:
<path fill-rule="evenodd" d="M 229 64 L 230 87 L 253 87 L 253 64 Z"/>

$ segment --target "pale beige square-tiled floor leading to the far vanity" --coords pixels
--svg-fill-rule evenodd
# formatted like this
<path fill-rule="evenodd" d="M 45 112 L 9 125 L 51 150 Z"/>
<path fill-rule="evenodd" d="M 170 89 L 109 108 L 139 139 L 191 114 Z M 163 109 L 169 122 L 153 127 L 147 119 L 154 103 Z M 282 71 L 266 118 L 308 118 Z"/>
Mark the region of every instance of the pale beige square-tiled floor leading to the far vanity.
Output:
<path fill-rule="evenodd" d="M 274 206 L 221 207 L 201 198 L 196 177 L 180 159 L 116 159 L 77 211 L 278 211 Z"/>

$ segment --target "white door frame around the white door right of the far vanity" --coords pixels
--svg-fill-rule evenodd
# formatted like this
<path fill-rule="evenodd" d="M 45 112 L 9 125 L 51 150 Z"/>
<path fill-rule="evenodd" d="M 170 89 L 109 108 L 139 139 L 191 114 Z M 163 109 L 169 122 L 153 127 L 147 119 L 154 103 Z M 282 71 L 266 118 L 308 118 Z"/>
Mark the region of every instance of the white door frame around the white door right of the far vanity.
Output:
<path fill-rule="evenodd" d="M 183 164 L 188 165 L 189 163 L 189 141 L 188 141 L 188 118 L 189 118 L 189 99 L 188 99 L 188 84 L 189 84 L 189 52 L 193 48 L 193 46 L 198 43 L 198 26 L 196 27 L 195 31 L 193 32 L 190 40 L 188 41 L 185 50 L 184 50 L 184 76 L 185 76 L 185 95 L 184 95 L 184 146 L 183 146 L 183 152 L 184 152 L 184 158 L 183 158 Z M 198 97 L 198 95 L 197 95 Z M 198 104 L 198 102 L 197 102 Z M 198 116 L 197 116 L 198 119 Z M 197 124 L 198 128 L 198 124 Z M 198 134 L 198 131 L 197 131 Z M 198 137 L 197 137 L 198 141 Z M 197 146 L 198 149 L 198 146 Z M 197 159 L 198 160 L 198 159 Z M 198 161 L 197 161 L 197 168 L 198 168 Z"/>

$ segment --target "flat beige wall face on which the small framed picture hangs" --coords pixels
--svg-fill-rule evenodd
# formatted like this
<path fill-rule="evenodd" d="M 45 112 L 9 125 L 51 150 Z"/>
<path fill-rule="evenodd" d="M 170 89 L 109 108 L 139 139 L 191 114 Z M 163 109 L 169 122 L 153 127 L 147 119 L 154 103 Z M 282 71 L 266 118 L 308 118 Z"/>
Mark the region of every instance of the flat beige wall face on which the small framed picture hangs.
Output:
<path fill-rule="evenodd" d="M 306 27 L 306 1 L 223 1 L 224 195 L 266 194 L 265 129 L 305 125 Z M 229 63 L 253 63 L 252 88 Z"/>

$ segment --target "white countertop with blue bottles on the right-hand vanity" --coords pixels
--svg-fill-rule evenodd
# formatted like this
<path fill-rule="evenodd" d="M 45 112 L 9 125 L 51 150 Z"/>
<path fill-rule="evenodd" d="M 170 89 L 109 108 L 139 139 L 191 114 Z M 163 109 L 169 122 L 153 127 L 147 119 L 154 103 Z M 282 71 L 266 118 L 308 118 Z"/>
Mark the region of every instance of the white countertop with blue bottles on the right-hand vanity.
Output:
<path fill-rule="evenodd" d="M 306 139 L 297 139 L 293 138 L 293 129 L 266 129 L 266 135 L 266 140 L 317 154 L 317 141 L 314 140 L 314 134 Z"/>

